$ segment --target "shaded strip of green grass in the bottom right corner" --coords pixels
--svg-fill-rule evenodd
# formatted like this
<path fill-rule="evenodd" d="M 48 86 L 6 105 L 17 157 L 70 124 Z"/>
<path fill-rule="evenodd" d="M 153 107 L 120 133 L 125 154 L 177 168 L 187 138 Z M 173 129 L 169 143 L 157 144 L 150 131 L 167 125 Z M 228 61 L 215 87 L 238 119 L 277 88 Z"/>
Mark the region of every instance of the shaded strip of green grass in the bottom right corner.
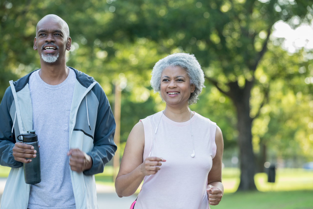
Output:
<path fill-rule="evenodd" d="M 313 191 L 235 192 L 211 209 L 313 209 Z"/>

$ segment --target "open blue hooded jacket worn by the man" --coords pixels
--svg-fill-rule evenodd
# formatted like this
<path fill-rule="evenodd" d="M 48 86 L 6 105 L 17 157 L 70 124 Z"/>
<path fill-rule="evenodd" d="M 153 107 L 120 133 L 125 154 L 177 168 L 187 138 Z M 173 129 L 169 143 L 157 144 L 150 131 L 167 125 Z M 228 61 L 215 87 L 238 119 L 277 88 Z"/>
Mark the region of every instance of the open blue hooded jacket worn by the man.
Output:
<path fill-rule="evenodd" d="M 95 209 L 98 207 L 94 174 L 103 172 L 117 149 L 113 140 L 115 121 L 100 84 L 85 73 L 71 69 L 75 71 L 76 81 L 69 114 L 69 149 L 84 151 L 93 162 L 84 172 L 70 170 L 75 204 L 76 209 Z M 33 72 L 10 81 L 0 104 L 0 165 L 12 168 L 3 191 L 1 209 L 27 209 L 28 206 L 30 185 L 25 183 L 23 163 L 14 159 L 12 149 L 19 134 L 33 129 L 29 92 L 29 76 Z"/>

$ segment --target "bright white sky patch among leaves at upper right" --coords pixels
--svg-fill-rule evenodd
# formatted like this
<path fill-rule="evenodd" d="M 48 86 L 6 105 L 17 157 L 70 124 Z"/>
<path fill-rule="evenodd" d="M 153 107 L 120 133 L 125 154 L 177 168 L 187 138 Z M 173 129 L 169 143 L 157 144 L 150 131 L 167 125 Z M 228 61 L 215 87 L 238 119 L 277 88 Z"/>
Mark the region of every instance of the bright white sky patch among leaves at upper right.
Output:
<path fill-rule="evenodd" d="M 299 24 L 294 19 L 294 24 Z M 273 38 L 285 38 L 282 48 L 290 53 L 304 47 L 306 51 L 313 50 L 313 21 L 311 24 L 302 23 L 299 27 L 292 29 L 290 25 L 280 20 L 274 24 Z"/>

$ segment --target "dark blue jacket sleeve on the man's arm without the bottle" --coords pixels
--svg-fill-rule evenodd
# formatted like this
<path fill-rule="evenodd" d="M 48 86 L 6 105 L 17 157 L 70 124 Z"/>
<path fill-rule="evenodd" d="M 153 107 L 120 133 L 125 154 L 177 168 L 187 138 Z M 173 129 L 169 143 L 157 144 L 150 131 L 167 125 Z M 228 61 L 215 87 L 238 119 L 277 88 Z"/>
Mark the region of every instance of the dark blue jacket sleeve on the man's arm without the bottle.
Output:
<path fill-rule="evenodd" d="M 117 146 L 114 143 L 115 120 L 105 93 L 97 83 L 92 91 L 99 100 L 98 115 L 95 126 L 94 148 L 87 153 L 92 159 L 92 167 L 85 170 L 85 175 L 102 173 L 104 166 L 115 154 Z"/>

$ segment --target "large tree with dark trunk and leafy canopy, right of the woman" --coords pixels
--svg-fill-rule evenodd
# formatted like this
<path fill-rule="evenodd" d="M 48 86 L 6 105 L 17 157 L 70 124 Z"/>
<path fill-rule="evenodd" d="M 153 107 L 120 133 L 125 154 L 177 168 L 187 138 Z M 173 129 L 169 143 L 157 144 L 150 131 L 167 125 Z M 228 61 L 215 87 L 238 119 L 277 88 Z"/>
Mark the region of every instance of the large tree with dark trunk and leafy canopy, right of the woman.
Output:
<path fill-rule="evenodd" d="M 255 85 L 255 71 L 268 50 L 272 26 L 295 15 L 304 18 L 307 6 L 311 6 L 305 0 L 262 2 L 117 1 L 112 4 L 116 15 L 109 23 L 111 31 L 127 34 L 132 40 L 151 37 L 159 43 L 161 52 L 184 50 L 195 54 L 207 80 L 232 100 L 239 131 L 238 190 L 256 189 L 251 128 L 259 111 L 250 116 L 249 99 Z"/>

